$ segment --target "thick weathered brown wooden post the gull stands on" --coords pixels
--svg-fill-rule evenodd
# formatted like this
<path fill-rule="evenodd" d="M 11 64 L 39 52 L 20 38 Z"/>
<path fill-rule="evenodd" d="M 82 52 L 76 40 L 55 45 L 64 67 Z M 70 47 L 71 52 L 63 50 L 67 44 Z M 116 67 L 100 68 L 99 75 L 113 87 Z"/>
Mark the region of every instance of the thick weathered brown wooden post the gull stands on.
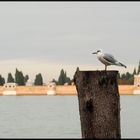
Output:
<path fill-rule="evenodd" d="M 117 74 L 76 71 L 82 138 L 121 138 Z"/>

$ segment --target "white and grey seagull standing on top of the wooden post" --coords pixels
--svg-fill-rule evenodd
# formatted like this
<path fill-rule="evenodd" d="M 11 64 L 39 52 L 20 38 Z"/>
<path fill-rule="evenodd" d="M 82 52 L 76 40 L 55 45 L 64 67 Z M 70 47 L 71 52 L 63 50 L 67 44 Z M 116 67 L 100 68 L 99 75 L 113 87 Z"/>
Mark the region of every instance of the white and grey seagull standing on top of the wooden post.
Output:
<path fill-rule="evenodd" d="M 113 55 L 103 53 L 101 49 L 97 50 L 96 52 L 92 54 L 97 54 L 97 58 L 105 65 L 105 71 L 107 70 L 107 66 L 109 65 L 117 65 L 117 66 L 122 66 L 126 68 L 126 66 L 120 63 L 119 61 L 117 61 Z"/>

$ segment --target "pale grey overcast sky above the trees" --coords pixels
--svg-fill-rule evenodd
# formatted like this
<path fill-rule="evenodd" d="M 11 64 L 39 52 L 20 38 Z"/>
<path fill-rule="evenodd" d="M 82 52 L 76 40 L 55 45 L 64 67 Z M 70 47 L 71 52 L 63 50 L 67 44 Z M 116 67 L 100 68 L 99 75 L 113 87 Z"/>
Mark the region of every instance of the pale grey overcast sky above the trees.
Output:
<path fill-rule="evenodd" d="M 31 81 L 73 78 L 80 70 L 103 70 L 92 52 L 102 49 L 133 72 L 140 61 L 140 2 L 0 2 L 0 74 L 16 68 Z"/>

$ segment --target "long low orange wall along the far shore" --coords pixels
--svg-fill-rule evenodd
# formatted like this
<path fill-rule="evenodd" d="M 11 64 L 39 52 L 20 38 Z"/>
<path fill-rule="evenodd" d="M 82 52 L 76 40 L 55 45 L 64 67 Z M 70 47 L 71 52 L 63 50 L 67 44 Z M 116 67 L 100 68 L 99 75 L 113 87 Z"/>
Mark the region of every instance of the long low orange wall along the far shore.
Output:
<path fill-rule="evenodd" d="M 119 85 L 120 95 L 134 95 L 134 91 L 139 91 L 140 87 L 134 85 Z M 56 85 L 55 89 L 51 89 L 48 86 L 16 86 L 14 89 L 6 89 L 0 86 L 0 95 L 4 95 L 4 91 L 13 91 L 13 95 L 48 95 L 48 91 L 55 91 L 55 95 L 77 95 L 77 90 L 75 85 Z M 6 94 L 5 94 L 6 95 Z M 8 94 L 7 94 L 8 95 Z"/>

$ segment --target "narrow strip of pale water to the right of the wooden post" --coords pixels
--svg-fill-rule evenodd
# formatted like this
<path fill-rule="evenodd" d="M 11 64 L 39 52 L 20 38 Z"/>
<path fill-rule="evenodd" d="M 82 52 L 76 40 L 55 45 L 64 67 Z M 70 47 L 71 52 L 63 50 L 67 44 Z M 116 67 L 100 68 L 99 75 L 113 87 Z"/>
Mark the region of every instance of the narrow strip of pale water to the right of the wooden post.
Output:
<path fill-rule="evenodd" d="M 140 95 L 121 96 L 122 138 L 140 138 Z"/>

